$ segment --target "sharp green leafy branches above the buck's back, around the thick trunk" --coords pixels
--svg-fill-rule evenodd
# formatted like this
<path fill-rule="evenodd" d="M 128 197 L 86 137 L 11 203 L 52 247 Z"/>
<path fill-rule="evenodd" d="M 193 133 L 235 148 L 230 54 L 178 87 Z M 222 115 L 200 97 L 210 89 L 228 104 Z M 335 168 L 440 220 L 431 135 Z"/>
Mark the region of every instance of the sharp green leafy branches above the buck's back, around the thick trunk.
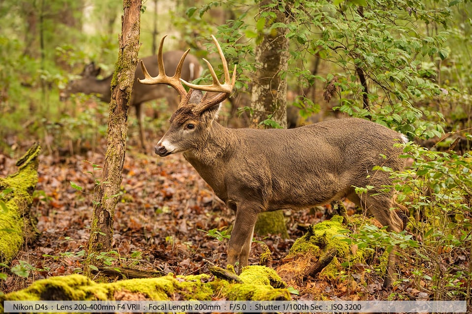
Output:
<path fill-rule="evenodd" d="M 187 15 L 203 19 L 211 8 L 226 5 L 205 2 L 188 9 Z M 451 31 L 463 40 L 469 34 L 470 19 L 462 26 L 451 23 L 451 13 L 458 5 L 468 7 L 459 2 L 419 0 L 269 2 L 266 8 L 278 8 L 292 17 L 282 24 L 271 23 L 274 12 L 264 7 L 253 12 L 253 3 L 243 1 L 232 9 L 238 18 L 217 26 L 217 37 L 224 45 L 228 43 L 224 51 L 230 63 L 238 64 L 238 78 L 249 81 L 247 71 L 254 70 L 252 47 L 274 29 L 285 28 L 291 61 L 288 73 L 282 75 L 290 88 L 304 89 L 321 82 L 331 87 L 325 90 L 325 99 L 338 100 L 336 110 L 369 118 L 411 138 L 430 138 L 444 132 L 443 113 L 449 112 L 427 100 L 447 101 L 453 89 L 443 86 L 445 70 L 453 71 L 451 66 L 444 68 L 452 55 L 445 45 Z M 238 14 L 244 12 L 241 8 L 254 14 Z M 211 27 L 207 26 L 202 35 L 208 31 Z M 316 58 L 329 65 L 327 75 L 310 71 Z M 366 78 L 365 86 L 359 73 Z M 465 100 L 461 103 L 467 104 Z M 294 105 L 305 117 L 320 109 L 320 104 L 303 94 L 295 97 Z"/>

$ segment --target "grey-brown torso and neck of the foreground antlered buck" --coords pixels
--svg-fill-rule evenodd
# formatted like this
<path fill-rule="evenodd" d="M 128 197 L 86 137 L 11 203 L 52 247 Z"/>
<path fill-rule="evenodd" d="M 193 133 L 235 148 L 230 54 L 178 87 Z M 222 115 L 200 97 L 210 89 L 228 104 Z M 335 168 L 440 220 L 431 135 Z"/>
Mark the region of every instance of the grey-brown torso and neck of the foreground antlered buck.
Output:
<path fill-rule="evenodd" d="M 228 129 L 213 122 L 202 147 L 183 155 L 224 202 L 251 197 L 242 192 L 252 191 L 263 211 L 272 211 L 352 196 L 353 185 L 373 185 L 379 179 L 386 184 L 388 174 L 374 175 L 372 169 L 403 169 L 402 159 L 381 157 L 400 154 L 393 148 L 396 143 L 401 134 L 355 118 L 289 130 Z"/>

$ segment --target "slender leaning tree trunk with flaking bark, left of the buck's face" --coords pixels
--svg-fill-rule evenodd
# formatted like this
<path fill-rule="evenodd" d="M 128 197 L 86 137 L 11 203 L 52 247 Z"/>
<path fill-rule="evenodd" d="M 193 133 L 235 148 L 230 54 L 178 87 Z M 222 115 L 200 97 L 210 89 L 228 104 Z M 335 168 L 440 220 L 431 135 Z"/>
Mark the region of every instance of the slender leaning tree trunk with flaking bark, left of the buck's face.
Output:
<path fill-rule="evenodd" d="M 128 131 L 128 108 L 138 63 L 141 0 L 123 0 L 118 61 L 113 75 L 108 120 L 108 144 L 101 184 L 95 194 L 89 238 L 89 264 L 93 256 L 108 252 L 112 245 L 113 221 L 122 181 Z"/>

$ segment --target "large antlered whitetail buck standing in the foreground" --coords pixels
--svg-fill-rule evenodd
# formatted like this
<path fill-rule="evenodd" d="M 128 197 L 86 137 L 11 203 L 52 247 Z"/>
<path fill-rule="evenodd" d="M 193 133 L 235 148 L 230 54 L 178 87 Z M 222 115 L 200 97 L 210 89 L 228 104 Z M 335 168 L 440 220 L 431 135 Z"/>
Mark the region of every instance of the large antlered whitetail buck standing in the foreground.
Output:
<path fill-rule="evenodd" d="M 165 37 L 164 37 L 165 38 Z M 258 213 L 277 209 L 305 209 L 348 198 L 370 211 L 388 230 L 405 228 L 405 208 L 396 203 L 393 192 L 381 191 L 392 179 L 374 166 L 402 170 L 396 143 L 406 138 L 379 124 L 355 118 L 331 120 L 291 130 L 228 129 L 215 121 L 220 102 L 233 90 L 236 66 L 230 79 L 225 56 L 212 36 L 223 63 L 221 84 L 210 63 L 211 85 L 195 85 L 180 79 L 180 67 L 173 77 L 165 75 L 159 47 L 159 75 L 151 77 L 141 61 L 143 84 L 167 84 L 181 96 L 169 130 L 159 140 L 159 156 L 183 153 L 216 195 L 236 211 L 228 245 L 228 262 L 239 262 L 239 271 L 248 255 Z M 188 93 L 181 82 L 190 87 Z M 199 90 L 199 91 L 195 91 Z M 202 96 L 200 91 L 213 92 Z M 374 188 L 358 195 L 354 186 Z M 385 286 L 393 278 L 395 255 L 391 253 Z"/>

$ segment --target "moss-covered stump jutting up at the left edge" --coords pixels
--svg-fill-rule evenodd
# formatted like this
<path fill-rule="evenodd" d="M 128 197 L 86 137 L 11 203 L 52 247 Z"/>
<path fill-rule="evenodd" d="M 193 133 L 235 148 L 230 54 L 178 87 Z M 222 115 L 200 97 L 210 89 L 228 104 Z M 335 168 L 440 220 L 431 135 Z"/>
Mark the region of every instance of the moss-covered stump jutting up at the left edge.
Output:
<path fill-rule="evenodd" d="M 0 262 L 10 262 L 24 241 L 37 235 L 37 218 L 31 214 L 33 192 L 38 183 L 39 144 L 34 144 L 21 157 L 18 171 L 0 178 Z"/>

